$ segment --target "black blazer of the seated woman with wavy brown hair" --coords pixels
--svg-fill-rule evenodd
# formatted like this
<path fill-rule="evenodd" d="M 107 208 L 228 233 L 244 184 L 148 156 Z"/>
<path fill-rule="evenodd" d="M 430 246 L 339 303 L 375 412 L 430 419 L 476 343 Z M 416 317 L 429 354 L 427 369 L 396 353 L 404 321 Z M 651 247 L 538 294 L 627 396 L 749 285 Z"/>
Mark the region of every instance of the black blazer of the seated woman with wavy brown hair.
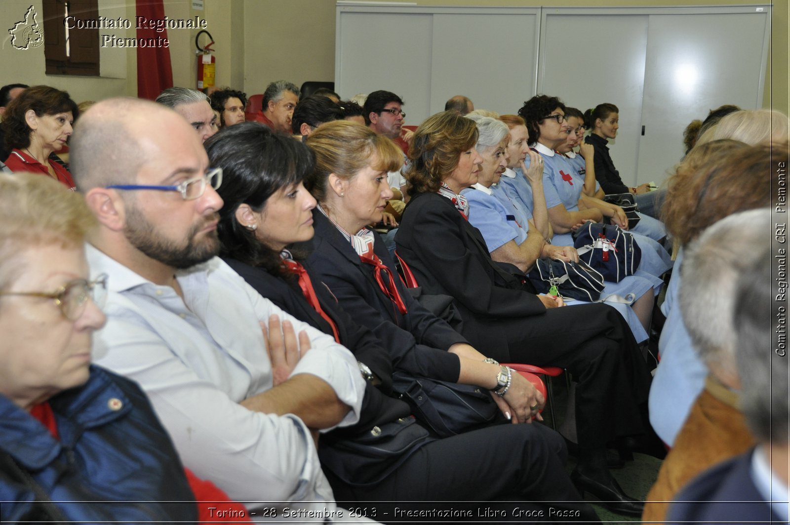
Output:
<path fill-rule="evenodd" d="M 426 293 L 454 297 L 464 334 L 487 355 L 501 355 L 507 347 L 504 334 L 487 330 L 487 319 L 546 313 L 540 299 L 519 286 L 510 265 L 491 259 L 480 230 L 438 193 L 412 197 L 395 244 Z"/>

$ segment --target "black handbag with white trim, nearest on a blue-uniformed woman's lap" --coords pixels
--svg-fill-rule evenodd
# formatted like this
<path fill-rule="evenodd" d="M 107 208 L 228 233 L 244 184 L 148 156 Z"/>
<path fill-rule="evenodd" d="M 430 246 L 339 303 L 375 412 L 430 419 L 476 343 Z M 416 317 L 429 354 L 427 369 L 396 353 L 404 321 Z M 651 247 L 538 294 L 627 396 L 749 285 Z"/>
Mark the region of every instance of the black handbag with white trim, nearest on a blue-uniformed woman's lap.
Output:
<path fill-rule="evenodd" d="M 549 293 L 552 286 L 563 297 L 596 301 L 604 291 L 604 276 L 583 261 L 560 261 L 541 257 L 527 274 L 538 293 Z"/>

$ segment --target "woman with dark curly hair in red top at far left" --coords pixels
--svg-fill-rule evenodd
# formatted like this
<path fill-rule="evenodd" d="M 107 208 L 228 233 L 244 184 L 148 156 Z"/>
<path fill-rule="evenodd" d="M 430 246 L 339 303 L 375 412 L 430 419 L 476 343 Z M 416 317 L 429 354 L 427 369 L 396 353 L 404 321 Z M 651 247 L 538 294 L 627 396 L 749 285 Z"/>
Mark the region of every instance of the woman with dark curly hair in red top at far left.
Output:
<path fill-rule="evenodd" d="M 48 85 L 25 89 L 3 115 L 6 147 L 11 150 L 6 166 L 13 172 L 51 176 L 75 190 L 69 170 L 50 155 L 69 140 L 72 124 L 79 115 L 77 104 L 65 91 Z"/>

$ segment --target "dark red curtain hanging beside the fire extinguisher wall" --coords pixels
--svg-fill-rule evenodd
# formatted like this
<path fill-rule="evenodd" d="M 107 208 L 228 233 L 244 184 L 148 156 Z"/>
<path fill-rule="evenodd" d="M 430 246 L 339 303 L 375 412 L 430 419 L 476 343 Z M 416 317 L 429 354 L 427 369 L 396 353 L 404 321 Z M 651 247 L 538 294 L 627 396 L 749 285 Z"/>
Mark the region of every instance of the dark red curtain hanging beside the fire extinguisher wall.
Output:
<path fill-rule="evenodd" d="M 137 16 L 149 20 L 164 20 L 163 0 L 137 0 Z M 154 100 L 163 89 L 173 87 L 173 68 L 170 49 L 164 46 L 140 47 L 141 39 L 165 39 L 167 28 L 156 32 L 152 28 L 137 29 L 137 96 Z"/>

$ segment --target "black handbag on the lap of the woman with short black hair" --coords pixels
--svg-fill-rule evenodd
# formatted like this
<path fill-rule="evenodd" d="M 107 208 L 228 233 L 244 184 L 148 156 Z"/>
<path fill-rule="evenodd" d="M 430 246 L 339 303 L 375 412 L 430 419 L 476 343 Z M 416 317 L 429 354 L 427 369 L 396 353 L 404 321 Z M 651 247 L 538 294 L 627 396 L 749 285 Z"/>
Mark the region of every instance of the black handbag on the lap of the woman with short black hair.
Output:
<path fill-rule="evenodd" d="M 318 440 L 318 459 L 348 485 L 374 485 L 434 439 L 413 417 L 401 417 L 352 437 L 323 435 Z"/>

